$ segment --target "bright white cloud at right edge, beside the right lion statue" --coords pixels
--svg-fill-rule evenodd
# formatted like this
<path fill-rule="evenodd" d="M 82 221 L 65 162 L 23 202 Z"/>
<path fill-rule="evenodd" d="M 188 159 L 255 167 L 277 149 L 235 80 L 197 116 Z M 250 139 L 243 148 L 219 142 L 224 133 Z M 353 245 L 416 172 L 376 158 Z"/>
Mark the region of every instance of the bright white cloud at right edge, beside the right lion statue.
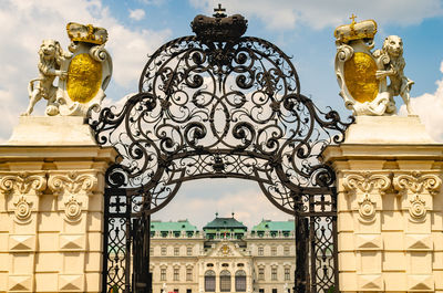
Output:
<path fill-rule="evenodd" d="M 443 62 L 440 64 L 443 73 Z M 421 96 L 411 98 L 411 106 L 414 114 L 420 116 L 421 122 L 426 127 L 427 133 L 436 142 L 443 142 L 443 76 L 436 81 L 436 91 L 433 94 L 425 93 Z M 401 106 L 401 115 L 406 115 L 406 107 Z"/>

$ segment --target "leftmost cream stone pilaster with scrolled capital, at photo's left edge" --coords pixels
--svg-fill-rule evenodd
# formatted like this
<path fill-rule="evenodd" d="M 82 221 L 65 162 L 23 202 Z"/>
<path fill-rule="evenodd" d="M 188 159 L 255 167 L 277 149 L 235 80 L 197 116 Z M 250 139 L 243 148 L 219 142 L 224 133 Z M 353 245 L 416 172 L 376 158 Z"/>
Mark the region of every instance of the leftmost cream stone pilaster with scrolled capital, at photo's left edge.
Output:
<path fill-rule="evenodd" d="M 0 279 L 10 292 L 33 292 L 40 196 L 47 187 L 42 171 L 0 171 Z M 1 291 L 1 289 L 0 289 Z"/>

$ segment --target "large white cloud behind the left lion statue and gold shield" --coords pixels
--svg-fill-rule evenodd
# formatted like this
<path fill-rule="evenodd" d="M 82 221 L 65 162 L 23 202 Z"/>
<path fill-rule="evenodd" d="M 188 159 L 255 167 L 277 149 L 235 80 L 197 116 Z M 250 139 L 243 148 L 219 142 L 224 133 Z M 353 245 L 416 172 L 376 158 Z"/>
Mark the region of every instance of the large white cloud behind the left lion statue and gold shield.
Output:
<path fill-rule="evenodd" d="M 131 30 L 119 22 L 100 0 L 2 1 L 0 6 L 0 140 L 9 137 L 18 116 L 28 105 L 28 82 L 38 75 L 38 50 L 43 39 L 59 40 L 64 50 L 70 42 L 70 21 L 106 28 L 106 49 L 113 59 L 111 83 L 136 91 L 140 74 L 153 53 L 171 35 L 169 30 Z M 107 93 L 110 96 L 110 93 Z M 112 96 L 111 96 L 112 97 Z M 116 97 L 117 98 L 117 97 Z M 40 102 L 44 104 L 45 102 Z M 38 112 L 34 115 L 42 115 Z M 4 126 L 3 126 L 4 125 Z"/>

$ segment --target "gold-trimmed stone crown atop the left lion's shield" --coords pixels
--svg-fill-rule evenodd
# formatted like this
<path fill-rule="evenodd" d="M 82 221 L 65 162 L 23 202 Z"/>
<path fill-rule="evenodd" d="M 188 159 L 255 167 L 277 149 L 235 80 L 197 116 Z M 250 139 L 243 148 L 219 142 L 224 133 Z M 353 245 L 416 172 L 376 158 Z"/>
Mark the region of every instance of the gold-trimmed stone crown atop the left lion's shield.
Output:
<path fill-rule="evenodd" d="M 104 44 L 107 41 L 107 31 L 103 28 L 95 28 L 92 24 L 83 25 L 70 22 L 66 25 L 66 31 L 73 42 Z"/>

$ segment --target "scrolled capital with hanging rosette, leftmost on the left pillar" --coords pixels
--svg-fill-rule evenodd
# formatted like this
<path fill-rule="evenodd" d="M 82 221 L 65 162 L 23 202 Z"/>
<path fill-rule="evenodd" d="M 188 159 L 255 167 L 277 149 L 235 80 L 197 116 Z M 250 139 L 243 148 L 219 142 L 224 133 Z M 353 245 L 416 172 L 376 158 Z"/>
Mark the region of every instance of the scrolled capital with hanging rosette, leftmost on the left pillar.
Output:
<path fill-rule="evenodd" d="M 43 174 L 7 172 L 0 174 L 0 192 L 12 196 L 16 221 L 28 223 L 31 221 L 31 208 L 38 207 L 35 197 L 42 195 L 47 188 L 47 178 Z"/>

